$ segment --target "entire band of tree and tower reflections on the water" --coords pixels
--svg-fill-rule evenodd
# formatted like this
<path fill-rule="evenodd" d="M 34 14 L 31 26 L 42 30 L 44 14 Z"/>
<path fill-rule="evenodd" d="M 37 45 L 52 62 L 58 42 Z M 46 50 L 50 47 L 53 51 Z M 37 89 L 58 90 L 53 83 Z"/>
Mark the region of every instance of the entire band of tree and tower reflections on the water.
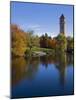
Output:
<path fill-rule="evenodd" d="M 33 78 L 38 71 L 39 63 L 45 68 L 48 64 L 54 63 L 60 73 L 60 82 L 65 82 L 65 69 L 68 65 L 73 64 L 73 55 L 57 54 L 51 56 L 23 57 L 12 58 L 12 84 L 18 83 L 23 78 Z M 51 67 L 51 66 L 50 66 Z"/>

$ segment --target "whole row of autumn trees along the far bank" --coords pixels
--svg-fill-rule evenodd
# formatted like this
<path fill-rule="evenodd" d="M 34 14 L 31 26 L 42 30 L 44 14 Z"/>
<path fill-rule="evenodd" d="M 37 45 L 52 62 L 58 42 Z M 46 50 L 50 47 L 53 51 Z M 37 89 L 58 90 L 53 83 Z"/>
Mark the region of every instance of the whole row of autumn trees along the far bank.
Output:
<path fill-rule="evenodd" d="M 34 35 L 33 30 L 23 31 L 19 26 L 11 24 L 11 52 L 15 56 L 24 56 L 25 52 L 33 47 L 48 48 L 64 51 L 73 49 L 74 39 L 59 34 L 57 37 L 49 37 L 47 33 L 42 36 Z"/>

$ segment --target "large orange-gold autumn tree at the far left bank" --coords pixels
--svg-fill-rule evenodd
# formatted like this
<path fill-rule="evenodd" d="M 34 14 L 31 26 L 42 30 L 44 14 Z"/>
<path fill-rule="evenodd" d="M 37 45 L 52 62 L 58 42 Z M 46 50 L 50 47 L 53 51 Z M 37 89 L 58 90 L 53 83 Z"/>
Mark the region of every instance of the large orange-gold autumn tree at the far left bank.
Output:
<path fill-rule="evenodd" d="M 26 33 L 17 25 L 11 25 L 11 39 L 12 54 L 15 56 L 24 56 L 27 46 Z"/>

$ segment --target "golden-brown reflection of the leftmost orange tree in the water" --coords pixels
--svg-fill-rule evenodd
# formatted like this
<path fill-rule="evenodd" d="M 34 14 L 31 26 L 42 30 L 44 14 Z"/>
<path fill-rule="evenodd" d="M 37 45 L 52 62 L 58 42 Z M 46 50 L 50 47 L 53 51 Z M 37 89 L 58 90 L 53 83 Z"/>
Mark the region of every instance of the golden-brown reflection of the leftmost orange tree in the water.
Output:
<path fill-rule="evenodd" d="M 27 62 L 22 57 L 12 58 L 12 84 L 23 79 L 27 72 Z"/>

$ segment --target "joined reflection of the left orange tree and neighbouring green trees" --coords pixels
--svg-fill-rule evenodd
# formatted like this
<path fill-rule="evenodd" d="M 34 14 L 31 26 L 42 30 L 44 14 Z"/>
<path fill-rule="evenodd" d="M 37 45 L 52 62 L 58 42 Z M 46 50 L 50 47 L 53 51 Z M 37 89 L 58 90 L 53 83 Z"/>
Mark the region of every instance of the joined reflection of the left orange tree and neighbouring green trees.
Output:
<path fill-rule="evenodd" d="M 24 59 L 23 57 L 12 58 L 12 85 L 17 84 L 22 79 L 32 79 L 38 70 L 39 58 Z"/>

